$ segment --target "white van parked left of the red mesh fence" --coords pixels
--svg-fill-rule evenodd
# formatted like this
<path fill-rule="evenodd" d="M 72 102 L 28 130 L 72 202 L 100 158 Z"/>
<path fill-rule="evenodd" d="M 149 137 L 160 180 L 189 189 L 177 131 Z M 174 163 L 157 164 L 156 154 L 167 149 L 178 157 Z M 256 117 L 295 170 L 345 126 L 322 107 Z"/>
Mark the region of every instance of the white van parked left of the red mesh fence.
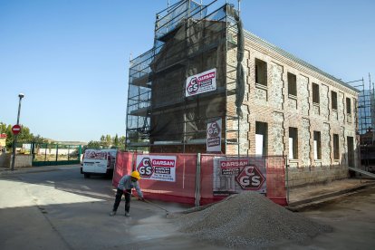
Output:
<path fill-rule="evenodd" d="M 82 159 L 81 173 L 84 178 L 91 175 L 113 175 L 117 149 L 86 149 Z"/>

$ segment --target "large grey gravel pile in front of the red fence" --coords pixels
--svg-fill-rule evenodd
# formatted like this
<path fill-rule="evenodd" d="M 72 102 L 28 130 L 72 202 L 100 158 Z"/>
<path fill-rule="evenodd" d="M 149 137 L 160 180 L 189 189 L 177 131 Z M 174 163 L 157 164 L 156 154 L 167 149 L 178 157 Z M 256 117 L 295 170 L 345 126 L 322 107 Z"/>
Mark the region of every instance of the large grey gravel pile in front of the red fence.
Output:
<path fill-rule="evenodd" d="M 229 247 L 267 246 L 284 240 L 302 243 L 332 231 L 256 192 L 228 197 L 200 211 L 193 209 L 177 221 L 181 232 Z"/>

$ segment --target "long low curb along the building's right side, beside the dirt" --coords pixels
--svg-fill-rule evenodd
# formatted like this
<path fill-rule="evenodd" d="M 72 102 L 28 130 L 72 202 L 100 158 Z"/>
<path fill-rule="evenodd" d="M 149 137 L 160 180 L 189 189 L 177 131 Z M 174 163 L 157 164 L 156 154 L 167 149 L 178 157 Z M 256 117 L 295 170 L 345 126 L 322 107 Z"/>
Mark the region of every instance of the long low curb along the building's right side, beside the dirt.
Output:
<path fill-rule="evenodd" d="M 362 189 L 366 189 L 370 187 L 375 187 L 375 182 L 365 183 L 358 187 L 351 187 L 351 188 L 343 189 L 340 191 L 335 191 L 332 193 L 324 194 L 321 196 L 295 201 L 293 203 L 290 203 L 289 206 L 285 208 L 292 212 L 302 212 L 303 210 L 306 210 L 308 208 L 318 206 L 320 204 L 323 204 L 325 202 L 328 202 L 328 201 L 331 201 L 340 197 L 350 196 L 358 191 L 361 191 Z"/>

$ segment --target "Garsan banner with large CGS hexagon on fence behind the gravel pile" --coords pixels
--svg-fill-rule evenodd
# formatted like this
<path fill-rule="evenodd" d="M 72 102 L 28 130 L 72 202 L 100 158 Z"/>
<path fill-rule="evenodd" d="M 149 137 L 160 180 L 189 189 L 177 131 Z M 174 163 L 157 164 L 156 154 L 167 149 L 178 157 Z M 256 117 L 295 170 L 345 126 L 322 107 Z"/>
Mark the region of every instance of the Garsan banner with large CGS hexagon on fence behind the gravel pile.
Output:
<path fill-rule="evenodd" d="M 214 158 L 214 196 L 252 190 L 266 193 L 264 158 Z"/>

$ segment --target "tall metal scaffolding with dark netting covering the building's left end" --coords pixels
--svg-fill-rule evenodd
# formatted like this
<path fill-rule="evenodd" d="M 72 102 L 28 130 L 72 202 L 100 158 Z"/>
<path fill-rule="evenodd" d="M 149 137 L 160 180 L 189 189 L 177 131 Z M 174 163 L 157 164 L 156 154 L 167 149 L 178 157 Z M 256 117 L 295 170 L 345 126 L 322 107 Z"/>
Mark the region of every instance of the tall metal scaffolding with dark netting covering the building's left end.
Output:
<path fill-rule="evenodd" d="M 130 60 L 127 150 L 206 152 L 207 123 L 222 119 L 221 152 L 239 152 L 241 114 L 228 100 L 242 104 L 240 20 L 235 5 L 222 2 L 182 0 L 156 14 L 153 48 Z M 211 69 L 216 90 L 187 95 L 187 78 Z"/>

